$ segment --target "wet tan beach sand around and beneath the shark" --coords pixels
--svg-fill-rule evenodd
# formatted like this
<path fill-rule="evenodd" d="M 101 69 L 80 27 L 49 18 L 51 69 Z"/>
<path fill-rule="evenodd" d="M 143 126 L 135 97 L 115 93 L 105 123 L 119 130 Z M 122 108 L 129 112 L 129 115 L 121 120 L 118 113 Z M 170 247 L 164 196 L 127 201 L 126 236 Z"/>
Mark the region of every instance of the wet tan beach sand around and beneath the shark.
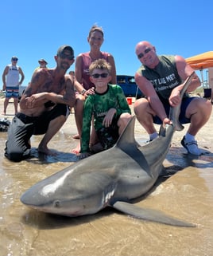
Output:
<path fill-rule="evenodd" d="M 3 99 L 0 99 L 0 113 L 2 105 Z M 7 113 L 11 120 L 13 103 L 9 104 Z M 37 181 L 76 161 L 71 153 L 79 143 L 72 139 L 76 134 L 74 114 L 71 113 L 49 144 L 49 148 L 58 152 L 56 157 L 39 156 L 37 145 L 41 136 L 33 136 L 34 157 L 12 163 L 4 157 L 6 132 L 0 132 L 0 255 L 213 256 L 212 124 L 213 113 L 196 136 L 202 156 L 189 156 L 180 145 L 188 125 L 184 131 L 174 134 L 164 163 L 165 176 L 137 203 L 196 223 L 195 228 L 145 222 L 114 209 L 78 218 L 33 211 L 21 204 L 21 194 Z M 148 139 L 137 121 L 135 136 L 140 144 Z"/>

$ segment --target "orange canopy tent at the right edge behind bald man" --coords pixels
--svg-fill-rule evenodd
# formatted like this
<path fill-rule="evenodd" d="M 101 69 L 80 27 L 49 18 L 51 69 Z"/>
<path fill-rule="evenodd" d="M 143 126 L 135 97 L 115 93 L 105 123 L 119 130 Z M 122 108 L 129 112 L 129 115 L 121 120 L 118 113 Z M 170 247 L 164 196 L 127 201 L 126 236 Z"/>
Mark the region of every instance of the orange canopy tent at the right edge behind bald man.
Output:
<path fill-rule="evenodd" d="M 188 57 L 186 61 L 188 65 L 190 65 L 193 69 L 200 71 L 203 85 L 203 69 L 209 69 L 213 67 L 213 51 Z"/>

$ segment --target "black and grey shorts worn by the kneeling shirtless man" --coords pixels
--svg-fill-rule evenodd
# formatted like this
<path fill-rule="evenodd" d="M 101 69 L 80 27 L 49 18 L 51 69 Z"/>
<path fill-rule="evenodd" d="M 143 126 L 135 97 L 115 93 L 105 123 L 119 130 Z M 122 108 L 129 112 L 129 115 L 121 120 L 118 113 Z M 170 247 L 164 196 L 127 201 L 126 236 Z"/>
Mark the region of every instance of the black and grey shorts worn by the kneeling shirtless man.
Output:
<path fill-rule="evenodd" d="M 61 115 L 68 116 L 68 106 L 65 104 L 56 104 L 54 108 L 42 113 L 41 116 L 26 116 L 23 113 L 17 113 L 8 129 L 5 156 L 15 162 L 28 158 L 31 136 L 45 134 L 50 121 Z"/>

